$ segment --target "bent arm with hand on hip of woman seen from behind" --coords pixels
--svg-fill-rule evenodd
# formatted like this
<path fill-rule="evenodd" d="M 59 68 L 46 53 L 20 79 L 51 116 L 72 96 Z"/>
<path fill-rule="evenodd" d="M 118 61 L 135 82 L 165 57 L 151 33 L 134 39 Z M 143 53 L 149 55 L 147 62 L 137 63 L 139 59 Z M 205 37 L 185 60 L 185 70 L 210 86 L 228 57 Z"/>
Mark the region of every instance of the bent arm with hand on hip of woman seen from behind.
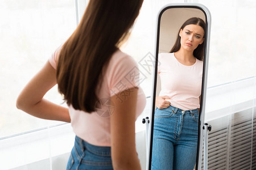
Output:
<path fill-rule="evenodd" d="M 56 84 L 56 70 L 49 62 L 28 82 L 16 100 L 16 107 L 32 116 L 70 122 L 68 108 L 53 104 L 43 96 Z"/>

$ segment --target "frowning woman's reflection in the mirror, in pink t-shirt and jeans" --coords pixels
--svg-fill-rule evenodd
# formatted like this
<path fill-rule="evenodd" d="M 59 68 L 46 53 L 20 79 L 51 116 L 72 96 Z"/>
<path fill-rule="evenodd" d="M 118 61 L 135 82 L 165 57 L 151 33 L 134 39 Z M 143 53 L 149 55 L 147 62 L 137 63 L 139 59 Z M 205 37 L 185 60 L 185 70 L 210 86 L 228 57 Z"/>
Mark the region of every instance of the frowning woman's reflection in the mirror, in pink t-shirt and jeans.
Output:
<path fill-rule="evenodd" d="M 203 76 L 205 23 L 188 19 L 170 53 L 160 53 L 162 89 L 156 97 L 152 169 L 193 169 Z"/>

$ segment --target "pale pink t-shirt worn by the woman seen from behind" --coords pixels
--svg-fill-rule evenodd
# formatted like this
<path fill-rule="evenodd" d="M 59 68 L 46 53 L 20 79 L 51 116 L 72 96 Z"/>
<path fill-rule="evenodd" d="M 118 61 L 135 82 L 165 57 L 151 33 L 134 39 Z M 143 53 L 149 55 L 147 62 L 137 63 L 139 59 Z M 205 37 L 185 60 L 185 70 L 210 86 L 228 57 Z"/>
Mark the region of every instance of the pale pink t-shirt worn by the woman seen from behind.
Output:
<path fill-rule="evenodd" d="M 49 58 L 49 63 L 55 69 L 60 48 Z M 111 96 L 133 87 L 139 87 L 138 65 L 132 57 L 118 49 L 110 59 L 101 88 L 97 90 L 99 103 L 102 104 L 102 107 L 96 107 L 96 112 L 86 113 L 74 109 L 72 105 L 69 106 L 71 125 L 75 134 L 92 145 L 111 146 L 110 115 L 113 113 L 114 106 L 108 106 L 107 101 Z M 125 95 L 129 94 L 121 95 L 123 96 L 118 96 L 118 99 L 125 102 Z M 142 88 L 139 87 L 136 118 L 142 113 L 145 105 L 146 96 Z"/>

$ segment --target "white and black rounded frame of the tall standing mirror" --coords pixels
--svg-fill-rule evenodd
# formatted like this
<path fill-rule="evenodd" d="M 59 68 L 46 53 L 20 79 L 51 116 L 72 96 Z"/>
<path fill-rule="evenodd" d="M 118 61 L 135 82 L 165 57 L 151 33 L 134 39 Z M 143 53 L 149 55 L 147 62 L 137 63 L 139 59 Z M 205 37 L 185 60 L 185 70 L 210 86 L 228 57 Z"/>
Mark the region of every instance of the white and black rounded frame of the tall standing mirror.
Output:
<path fill-rule="evenodd" d="M 159 52 L 159 33 L 160 33 L 160 19 L 164 11 L 170 8 L 197 8 L 201 10 L 205 15 L 205 51 L 204 51 L 204 65 L 203 65 L 203 78 L 202 78 L 202 88 L 201 88 L 201 102 L 200 102 L 200 112 L 199 112 L 199 127 L 198 127 L 198 140 L 197 140 L 197 155 L 196 155 L 196 169 L 201 169 L 201 153 L 203 149 L 203 127 L 204 127 L 204 117 L 205 117 L 205 98 L 207 92 L 207 75 L 208 75 L 208 61 L 209 61 L 209 41 L 210 41 L 210 24 L 211 16 L 207 7 L 201 5 L 200 3 L 170 3 L 163 6 L 157 15 L 157 25 L 156 25 L 156 39 L 155 39 L 155 70 L 153 69 L 152 76 L 152 92 L 151 92 L 151 109 L 150 109 L 150 124 L 148 127 L 148 137 L 147 137 L 147 168 L 151 169 L 151 159 L 152 159 L 152 138 L 154 127 L 154 111 L 155 111 L 155 97 L 156 97 L 156 82 L 157 82 L 157 70 L 158 70 L 158 52 Z M 148 142 L 149 141 L 149 142 Z M 199 166 L 200 165 L 200 166 Z"/>

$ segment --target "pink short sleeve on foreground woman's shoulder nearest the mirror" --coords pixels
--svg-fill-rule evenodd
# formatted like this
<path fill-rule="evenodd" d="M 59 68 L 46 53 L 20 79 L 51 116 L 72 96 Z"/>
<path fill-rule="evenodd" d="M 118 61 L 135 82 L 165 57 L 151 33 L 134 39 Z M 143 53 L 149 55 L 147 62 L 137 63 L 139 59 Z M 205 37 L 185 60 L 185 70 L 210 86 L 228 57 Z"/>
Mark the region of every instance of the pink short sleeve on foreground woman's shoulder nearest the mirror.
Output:
<path fill-rule="evenodd" d="M 132 57 L 119 57 L 117 61 L 109 65 L 109 68 L 108 83 L 110 96 L 139 86 L 139 69 Z"/>

